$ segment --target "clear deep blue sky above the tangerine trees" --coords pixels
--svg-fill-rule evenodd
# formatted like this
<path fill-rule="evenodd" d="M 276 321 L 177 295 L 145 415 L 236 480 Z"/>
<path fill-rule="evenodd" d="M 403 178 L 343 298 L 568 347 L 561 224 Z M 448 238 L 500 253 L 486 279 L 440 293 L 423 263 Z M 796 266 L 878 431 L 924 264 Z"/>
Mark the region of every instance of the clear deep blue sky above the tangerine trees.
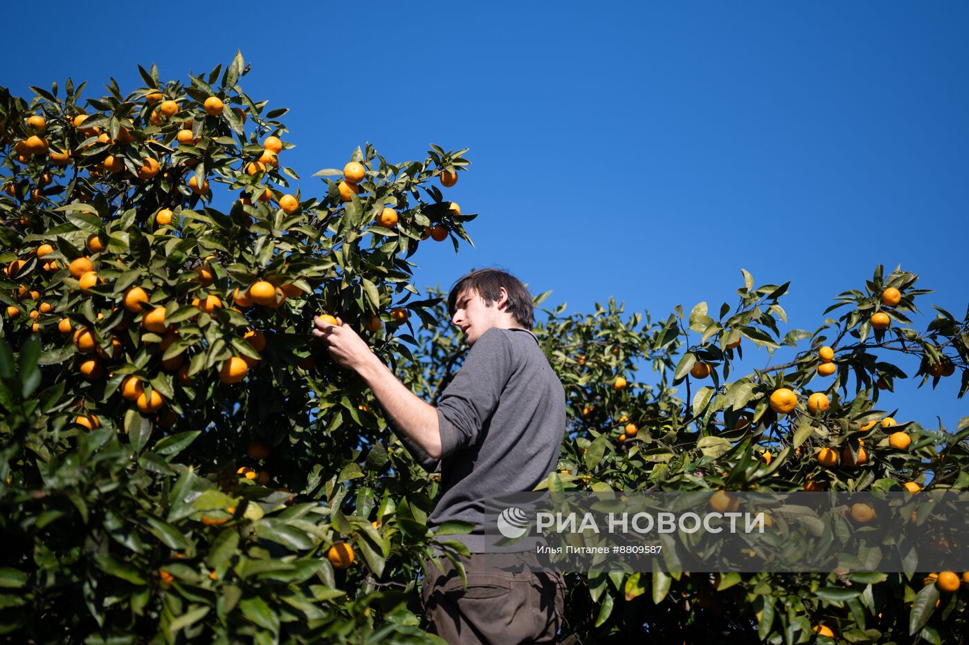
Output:
<path fill-rule="evenodd" d="M 662 318 L 733 303 L 745 267 L 793 280 L 791 326 L 813 329 L 881 262 L 921 274 L 929 316 L 969 301 L 964 3 L 45 7 L 60 53 L 9 30 L 0 84 L 86 78 L 90 95 L 152 62 L 185 81 L 241 48 L 250 96 L 292 109 L 304 194 L 365 141 L 391 160 L 470 147 L 448 195 L 481 213 L 477 248 L 427 244 L 419 285 L 500 265 L 570 311 L 614 295 Z M 899 384 L 890 401 L 952 428 L 969 414 L 956 391 Z"/>

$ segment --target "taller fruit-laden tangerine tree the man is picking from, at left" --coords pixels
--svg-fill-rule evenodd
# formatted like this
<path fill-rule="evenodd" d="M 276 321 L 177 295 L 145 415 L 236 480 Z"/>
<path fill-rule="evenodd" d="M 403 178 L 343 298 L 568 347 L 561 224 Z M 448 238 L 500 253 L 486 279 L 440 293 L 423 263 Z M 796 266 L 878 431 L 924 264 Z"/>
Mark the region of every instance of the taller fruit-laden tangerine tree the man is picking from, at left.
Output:
<path fill-rule="evenodd" d="M 433 303 L 408 259 L 467 239 L 441 190 L 465 151 L 366 145 L 303 195 L 241 55 L 139 69 L 87 100 L 0 88 L 4 630 L 422 641 L 434 483 L 309 330 L 338 314 L 410 355 Z"/>

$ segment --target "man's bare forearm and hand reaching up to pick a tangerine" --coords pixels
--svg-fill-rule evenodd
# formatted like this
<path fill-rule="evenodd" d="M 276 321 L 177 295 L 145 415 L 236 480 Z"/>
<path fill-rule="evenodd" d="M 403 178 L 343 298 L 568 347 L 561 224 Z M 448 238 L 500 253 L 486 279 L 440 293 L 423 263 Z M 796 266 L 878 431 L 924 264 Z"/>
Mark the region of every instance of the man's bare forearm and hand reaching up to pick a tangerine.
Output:
<path fill-rule="evenodd" d="M 440 459 L 441 429 L 434 407 L 400 383 L 351 327 L 324 323 L 318 317 L 313 322 L 313 334 L 326 341 L 330 355 L 339 365 L 360 375 L 391 417 L 394 427 L 428 457 Z"/>

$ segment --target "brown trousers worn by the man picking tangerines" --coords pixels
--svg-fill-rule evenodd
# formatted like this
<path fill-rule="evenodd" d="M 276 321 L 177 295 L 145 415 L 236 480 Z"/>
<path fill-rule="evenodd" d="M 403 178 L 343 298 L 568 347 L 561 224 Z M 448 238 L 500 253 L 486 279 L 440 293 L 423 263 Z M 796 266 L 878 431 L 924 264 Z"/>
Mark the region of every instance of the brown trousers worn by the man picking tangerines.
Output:
<path fill-rule="evenodd" d="M 451 644 L 558 641 L 565 599 L 561 573 L 534 571 L 531 553 L 472 553 L 461 562 L 467 588 L 451 560 L 441 558 L 444 572 L 427 562 L 421 597 L 429 632 Z"/>

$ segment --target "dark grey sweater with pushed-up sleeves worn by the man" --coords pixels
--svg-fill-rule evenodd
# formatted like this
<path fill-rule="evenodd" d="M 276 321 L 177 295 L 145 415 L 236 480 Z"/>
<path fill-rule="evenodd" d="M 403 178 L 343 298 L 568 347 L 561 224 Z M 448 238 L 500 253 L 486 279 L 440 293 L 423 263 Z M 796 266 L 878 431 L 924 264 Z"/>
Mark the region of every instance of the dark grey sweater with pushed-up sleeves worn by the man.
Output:
<path fill-rule="evenodd" d="M 474 523 L 475 532 L 451 537 L 473 553 L 534 550 L 531 542 L 493 544 L 495 508 L 485 500 L 534 490 L 558 463 L 565 389 L 535 336 L 526 329 L 485 331 L 441 395 L 437 416 L 441 495 L 428 526 Z M 401 441 L 424 468 L 435 468 L 435 460 L 413 442 Z M 490 537 L 484 535 L 485 522 L 491 525 Z"/>

